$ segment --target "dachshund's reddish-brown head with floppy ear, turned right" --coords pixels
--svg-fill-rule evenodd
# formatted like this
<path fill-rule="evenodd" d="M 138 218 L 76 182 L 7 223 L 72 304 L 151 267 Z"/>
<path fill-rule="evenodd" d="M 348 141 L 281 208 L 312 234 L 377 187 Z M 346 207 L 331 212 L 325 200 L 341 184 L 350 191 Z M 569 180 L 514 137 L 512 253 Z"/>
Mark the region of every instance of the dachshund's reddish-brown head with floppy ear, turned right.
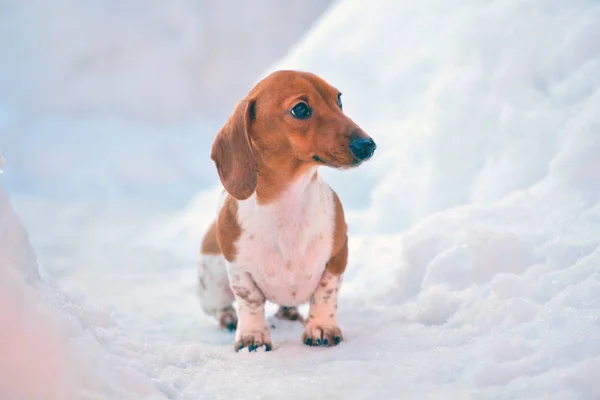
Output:
<path fill-rule="evenodd" d="M 356 167 L 376 145 L 342 111 L 342 94 L 314 74 L 277 71 L 239 102 L 213 143 L 225 189 L 236 199 L 252 195 L 261 164 L 271 168 Z"/>

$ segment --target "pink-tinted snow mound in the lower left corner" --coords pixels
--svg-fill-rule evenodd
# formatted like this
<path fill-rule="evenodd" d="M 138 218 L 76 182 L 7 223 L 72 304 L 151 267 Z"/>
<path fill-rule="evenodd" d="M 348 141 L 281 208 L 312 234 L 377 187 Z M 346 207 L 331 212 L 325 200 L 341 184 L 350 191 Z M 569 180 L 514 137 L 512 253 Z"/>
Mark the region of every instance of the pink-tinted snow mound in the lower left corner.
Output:
<path fill-rule="evenodd" d="M 144 353 L 153 354 L 108 315 L 40 278 L 27 235 L 0 188 L 0 398 L 162 398 L 139 372 L 153 368 L 156 357 Z M 169 357 L 180 353 L 173 349 Z"/>

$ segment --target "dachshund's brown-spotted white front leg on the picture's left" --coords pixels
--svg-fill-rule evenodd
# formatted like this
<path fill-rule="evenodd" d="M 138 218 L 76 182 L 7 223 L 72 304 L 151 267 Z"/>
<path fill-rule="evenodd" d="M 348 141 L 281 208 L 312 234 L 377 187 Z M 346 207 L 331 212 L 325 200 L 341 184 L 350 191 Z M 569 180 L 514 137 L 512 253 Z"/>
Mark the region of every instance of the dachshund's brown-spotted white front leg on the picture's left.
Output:
<path fill-rule="evenodd" d="M 266 351 L 271 350 L 273 345 L 265 320 L 265 296 L 256 287 L 249 273 L 231 264 L 228 271 L 237 302 L 235 351 L 243 348 L 254 351 L 262 346 Z"/>

